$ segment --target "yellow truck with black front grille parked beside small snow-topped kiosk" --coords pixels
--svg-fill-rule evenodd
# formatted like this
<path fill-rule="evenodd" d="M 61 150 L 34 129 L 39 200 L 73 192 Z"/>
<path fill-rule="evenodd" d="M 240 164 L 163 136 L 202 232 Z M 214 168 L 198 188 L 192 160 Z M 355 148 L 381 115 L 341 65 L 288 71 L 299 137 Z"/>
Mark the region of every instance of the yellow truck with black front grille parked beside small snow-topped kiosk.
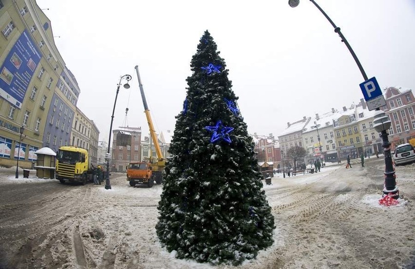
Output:
<path fill-rule="evenodd" d="M 56 155 L 55 178 L 60 183 L 79 182 L 85 185 L 92 180 L 92 165 L 88 150 L 76 146 L 61 146 Z"/>

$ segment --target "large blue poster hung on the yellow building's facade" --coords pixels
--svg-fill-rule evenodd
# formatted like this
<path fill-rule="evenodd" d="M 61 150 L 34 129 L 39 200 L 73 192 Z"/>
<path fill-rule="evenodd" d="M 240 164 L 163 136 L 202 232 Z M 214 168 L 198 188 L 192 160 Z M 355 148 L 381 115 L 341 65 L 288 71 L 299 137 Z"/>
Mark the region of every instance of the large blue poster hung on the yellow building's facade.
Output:
<path fill-rule="evenodd" d="M 21 108 L 27 87 L 42 54 L 24 30 L 0 68 L 0 96 Z"/>

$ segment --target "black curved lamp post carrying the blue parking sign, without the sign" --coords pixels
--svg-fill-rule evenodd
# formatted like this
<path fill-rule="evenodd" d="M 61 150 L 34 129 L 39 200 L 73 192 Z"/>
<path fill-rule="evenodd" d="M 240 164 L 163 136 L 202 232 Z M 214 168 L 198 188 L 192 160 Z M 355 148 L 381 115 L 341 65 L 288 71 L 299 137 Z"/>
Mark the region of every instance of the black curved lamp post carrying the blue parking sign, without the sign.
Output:
<path fill-rule="evenodd" d="M 356 64 L 358 65 L 358 68 L 364 78 L 365 81 L 368 80 L 368 77 L 366 75 L 366 72 L 364 72 L 362 65 L 360 64 L 360 61 L 358 60 L 358 56 L 356 56 L 355 52 L 353 51 L 352 47 L 350 46 L 349 42 L 347 42 L 346 38 L 341 34 L 340 27 L 337 27 L 336 24 L 327 16 L 327 14 L 321 9 L 321 7 L 314 1 L 310 0 L 324 15 L 324 17 L 327 18 L 327 20 L 330 22 L 330 24 L 334 27 L 334 32 L 338 33 L 341 41 L 344 42 L 349 52 L 352 54 L 353 59 L 355 59 Z M 288 0 L 288 4 L 290 7 L 296 7 L 300 3 L 300 0 Z M 375 129 L 380 132 L 380 137 L 382 138 L 382 147 L 384 148 L 384 156 L 385 156 L 385 187 L 383 188 L 383 194 L 389 195 L 393 198 L 399 198 L 399 191 L 396 186 L 396 175 L 393 167 L 392 157 L 391 157 L 391 149 L 388 139 L 388 133 L 386 130 L 389 130 L 391 126 L 391 122 L 389 121 L 388 117 L 385 116 L 385 112 L 380 110 L 379 108 L 376 108 L 377 114 L 375 115 L 374 122 L 377 121 L 377 126 Z M 338 158 L 339 159 L 339 158 Z"/>

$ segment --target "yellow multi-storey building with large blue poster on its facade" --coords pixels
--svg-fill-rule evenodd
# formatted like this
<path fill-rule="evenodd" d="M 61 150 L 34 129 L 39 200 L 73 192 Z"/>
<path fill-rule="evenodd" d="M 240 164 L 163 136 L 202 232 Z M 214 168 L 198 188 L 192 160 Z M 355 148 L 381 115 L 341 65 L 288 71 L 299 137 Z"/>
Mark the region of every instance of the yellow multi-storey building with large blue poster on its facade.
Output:
<path fill-rule="evenodd" d="M 0 165 L 16 165 L 19 152 L 19 166 L 29 168 L 62 68 L 51 53 L 50 21 L 34 0 L 1 0 L 0 30 Z"/>

